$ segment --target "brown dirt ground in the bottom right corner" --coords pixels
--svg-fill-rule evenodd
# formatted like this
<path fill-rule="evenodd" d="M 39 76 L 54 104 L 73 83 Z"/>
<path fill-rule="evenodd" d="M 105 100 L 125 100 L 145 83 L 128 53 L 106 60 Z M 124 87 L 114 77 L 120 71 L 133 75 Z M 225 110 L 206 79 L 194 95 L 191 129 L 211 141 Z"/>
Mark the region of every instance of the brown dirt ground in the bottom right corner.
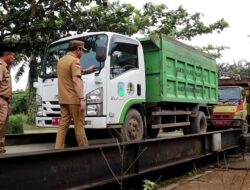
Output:
<path fill-rule="evenodd" d="M 250 190 L 250 156 L 229 159 L 227 165 L 206 170 L 160 190 Z"/>

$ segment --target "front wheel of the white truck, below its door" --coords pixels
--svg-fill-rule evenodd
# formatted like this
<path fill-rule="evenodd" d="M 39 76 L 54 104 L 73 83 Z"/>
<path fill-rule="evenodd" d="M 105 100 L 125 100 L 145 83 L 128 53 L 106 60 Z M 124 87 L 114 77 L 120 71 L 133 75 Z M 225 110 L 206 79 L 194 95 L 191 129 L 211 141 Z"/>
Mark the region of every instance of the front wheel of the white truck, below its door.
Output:
<path fill-rule="evenodd" d="M 121 128 L 121 134 L 119 140 L 134 141 L 142 140 L 144 137 L 144 124 L 141 114 L 136 109 L 128 111 L 125 122 Z"/>

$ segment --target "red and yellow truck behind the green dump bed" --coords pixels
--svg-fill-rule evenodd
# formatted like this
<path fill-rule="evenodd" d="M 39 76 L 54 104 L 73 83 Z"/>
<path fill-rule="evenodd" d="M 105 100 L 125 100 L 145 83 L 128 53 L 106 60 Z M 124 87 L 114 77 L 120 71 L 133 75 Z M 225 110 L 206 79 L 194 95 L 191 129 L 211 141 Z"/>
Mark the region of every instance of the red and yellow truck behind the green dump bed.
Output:
<path fill-rule="evenodd" d="M 209 127 L 241 128 L 248 133 L 250 124 L 250 78 L 222 77 L 219 79 L 219 103 L 213 108 Z"/>

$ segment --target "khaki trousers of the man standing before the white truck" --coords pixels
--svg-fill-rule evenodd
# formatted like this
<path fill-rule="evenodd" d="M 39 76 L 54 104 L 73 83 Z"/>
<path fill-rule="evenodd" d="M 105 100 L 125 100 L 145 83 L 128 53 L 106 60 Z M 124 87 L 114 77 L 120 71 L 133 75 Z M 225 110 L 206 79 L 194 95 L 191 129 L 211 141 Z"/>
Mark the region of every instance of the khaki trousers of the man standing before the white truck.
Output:
<path fill-rule="evenodd" d="M 74 121 L 76 140 L 79 147 L 88 146 L 88 139 L 85 133 L 84 114 L 80 111 L 79 104 L 61 104 L 60 126 L 56 135 L 56 149 L 64 148 L 65 136 L 68 132 L 71 119 Z"/>

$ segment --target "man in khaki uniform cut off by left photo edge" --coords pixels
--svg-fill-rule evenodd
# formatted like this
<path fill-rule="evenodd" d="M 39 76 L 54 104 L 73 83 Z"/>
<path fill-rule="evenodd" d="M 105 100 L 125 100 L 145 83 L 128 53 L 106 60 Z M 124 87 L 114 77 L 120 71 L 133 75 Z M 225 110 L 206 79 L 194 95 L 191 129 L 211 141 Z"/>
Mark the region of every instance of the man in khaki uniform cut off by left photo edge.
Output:
<path fill-rule="evenodd" d="M 15 53 L 12 49 L 8 47 L 0 49 L 0 154 L 6 152 L 4 149 L 5 130 L 11 113 L 12 96 L 10 68 L 15 60 Z"/>

